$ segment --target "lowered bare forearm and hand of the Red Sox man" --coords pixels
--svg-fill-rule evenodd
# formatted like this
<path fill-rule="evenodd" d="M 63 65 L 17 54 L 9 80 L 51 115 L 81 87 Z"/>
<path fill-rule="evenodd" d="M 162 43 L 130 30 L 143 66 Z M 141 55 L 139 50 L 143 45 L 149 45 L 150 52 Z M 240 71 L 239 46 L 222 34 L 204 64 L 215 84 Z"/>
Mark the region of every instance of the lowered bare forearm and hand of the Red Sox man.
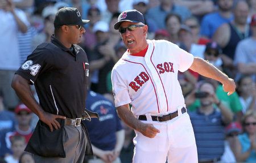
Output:
<path fill-rule="evenodd" d="M 125 122 L 134 130 L 141 132 L 141 134 L 147 136 L 148 138 L 154 138 L 156 134 L 160 132 L 152 124 L 142 123 L 136 117 L 134 117 L 133 113 L 129 108 L 129 104 L 118 106 L 117 113 L 123 122 Z"/>

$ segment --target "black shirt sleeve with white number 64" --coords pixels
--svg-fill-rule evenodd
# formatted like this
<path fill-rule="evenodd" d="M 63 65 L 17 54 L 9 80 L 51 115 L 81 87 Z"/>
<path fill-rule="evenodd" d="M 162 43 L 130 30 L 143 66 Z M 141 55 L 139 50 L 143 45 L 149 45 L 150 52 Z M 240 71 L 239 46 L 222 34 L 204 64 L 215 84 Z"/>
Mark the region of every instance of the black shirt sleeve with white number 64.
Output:
<path fill-rule="evenodd" d="M 15 74 L 30 81 L 30 84 L 34 84 L 38 76 L 51 67 L 53 62 L 51 56 L 49 50 L 36 49 L 32 54 L 28 55 L 27 60 L 20 66 Z"/>

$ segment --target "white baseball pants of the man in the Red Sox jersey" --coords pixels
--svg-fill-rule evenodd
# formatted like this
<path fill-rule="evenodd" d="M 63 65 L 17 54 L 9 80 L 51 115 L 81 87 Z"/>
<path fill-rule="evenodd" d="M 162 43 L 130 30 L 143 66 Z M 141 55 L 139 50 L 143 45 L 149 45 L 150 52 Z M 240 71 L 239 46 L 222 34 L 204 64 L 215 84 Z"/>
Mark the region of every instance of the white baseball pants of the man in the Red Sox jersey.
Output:
<path fill-rule="evenodd" d="M 154 125 L 160 133 L 155 138 L 147 138 L 135 131 L 134 163 L 165 163 L 166 160 L 168 163 L 198 162 L 195 135 L 188 113 L 179 114 L 166 122 L 141 122 Z"/>

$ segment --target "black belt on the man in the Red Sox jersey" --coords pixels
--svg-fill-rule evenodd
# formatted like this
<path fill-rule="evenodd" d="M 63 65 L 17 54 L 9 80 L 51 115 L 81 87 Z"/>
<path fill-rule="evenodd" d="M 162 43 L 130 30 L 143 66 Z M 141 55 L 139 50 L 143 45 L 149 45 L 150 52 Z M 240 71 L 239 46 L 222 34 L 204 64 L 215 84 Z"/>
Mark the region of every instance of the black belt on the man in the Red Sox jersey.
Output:
<path fill-rule="evenodd" d="M 182 108 L 181 109 L 181 113 L 185 113 L 187 112 L 187 109 L 186 108 Z M 152 118 L 152 121 L 158 121 L 158 122 L 164 122 L 164 121 L 169 121 L 171 119 L 174 119 L 175 117 L 178 116 L 178 110 L 175 111 L 174 113 L 170 113 L 170 114 L 167 114 L 167 115 L 163 115 L 163 116 L 154 116 L 154 115 L 151 115 L 151 118 Z M 139 120 L 142 120 L 142 121 L 147 121 L 147 117 L 146 115 L 139 115 Z"/>

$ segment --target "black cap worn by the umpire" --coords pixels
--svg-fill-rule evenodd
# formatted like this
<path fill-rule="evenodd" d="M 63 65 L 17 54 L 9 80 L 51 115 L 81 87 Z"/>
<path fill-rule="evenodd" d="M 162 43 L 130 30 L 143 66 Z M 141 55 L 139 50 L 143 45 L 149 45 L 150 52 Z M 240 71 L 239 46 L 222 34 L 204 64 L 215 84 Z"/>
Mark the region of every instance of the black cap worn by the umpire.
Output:
<path fill-rule="evenodd" d="M 54 20 L 54 27 L 58 28 L 62 25 L 84 25 L 90 20 L 82 20 L 80 12 L 74 7 L 63 7 L 57 11 Z"/>

